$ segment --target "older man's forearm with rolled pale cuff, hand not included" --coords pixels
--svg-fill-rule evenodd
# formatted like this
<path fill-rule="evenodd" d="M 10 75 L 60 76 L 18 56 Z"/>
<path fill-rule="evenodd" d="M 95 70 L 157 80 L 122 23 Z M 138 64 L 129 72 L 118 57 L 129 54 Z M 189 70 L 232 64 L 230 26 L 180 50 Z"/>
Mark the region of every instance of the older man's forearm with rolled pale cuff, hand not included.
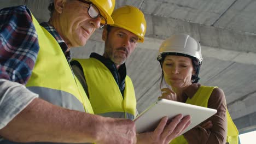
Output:
<path fill-rule="evenodd" d="M 17 142 L 97 141 L 102 117 L 63 109 L 37 97 L 20 83 L 0 79 L 0 137 Z"/>

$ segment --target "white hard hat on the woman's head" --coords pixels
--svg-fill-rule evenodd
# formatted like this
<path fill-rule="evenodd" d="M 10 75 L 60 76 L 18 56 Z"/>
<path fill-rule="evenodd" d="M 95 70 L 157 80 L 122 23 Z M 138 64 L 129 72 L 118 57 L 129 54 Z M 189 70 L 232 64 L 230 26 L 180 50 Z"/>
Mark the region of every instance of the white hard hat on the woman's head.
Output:
<path fill-rule="evenodd" d="M 161 61 L 162 53 L 169 52 L 195 57 L 199 65 L 201 65 L 203 61 L 199 42 L 188 34 L 176 34 L 164 40 L 158 52 L 158 61 Z"/>

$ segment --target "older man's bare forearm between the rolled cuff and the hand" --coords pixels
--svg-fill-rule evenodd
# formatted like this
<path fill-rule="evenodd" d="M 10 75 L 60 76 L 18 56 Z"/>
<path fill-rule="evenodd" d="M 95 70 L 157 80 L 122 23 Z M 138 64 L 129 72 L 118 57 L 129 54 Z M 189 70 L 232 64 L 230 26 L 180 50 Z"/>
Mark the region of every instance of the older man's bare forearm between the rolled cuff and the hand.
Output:
<path fill-rule="evenodd" d="M 100 116 L 63 109 L 37 98 L 1 129 L 0 135 L 16 142 L 96 142 L 101 120 Z"/>

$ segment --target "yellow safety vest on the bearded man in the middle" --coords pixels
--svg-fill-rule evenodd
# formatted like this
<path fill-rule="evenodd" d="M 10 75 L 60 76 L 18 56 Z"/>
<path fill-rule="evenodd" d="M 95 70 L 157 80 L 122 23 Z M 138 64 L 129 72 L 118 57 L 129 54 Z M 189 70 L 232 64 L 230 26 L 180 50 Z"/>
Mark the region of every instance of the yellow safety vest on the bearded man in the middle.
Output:
<path fill-rule="evenodd" d="M 136 97 L 129 76 L 125 78 L 124 98 L 109 69 L 95 58 L 74 59 L 83 68 L 94 113 L 106 117 L 134 119 Z"/>

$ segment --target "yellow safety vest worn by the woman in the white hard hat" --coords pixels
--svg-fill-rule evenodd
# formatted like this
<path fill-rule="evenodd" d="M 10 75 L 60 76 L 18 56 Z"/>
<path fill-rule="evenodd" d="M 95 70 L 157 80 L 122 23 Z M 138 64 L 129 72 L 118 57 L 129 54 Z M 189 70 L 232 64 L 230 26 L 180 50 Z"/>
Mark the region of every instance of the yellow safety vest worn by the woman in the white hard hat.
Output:
<path fill-rule="evenodd" d="M 192 105 L 198 105 L 207 107 L 208 106 L 208 100 L 212 94 L 212 91 L 214 88 L 217 87 L 207 87 L 207 86 L 201 86 L 192 99 L 188 98 L 186 101 L 187 104 Z M 238 130 L 236 128 L 236 125 L 232 121 L 232 118 L 229 115 L 228 109 L 226 109 L 226 120 L 228 122 L 228 135 L 226 138 L 226 142 L 229 142 L 229 144 L 238 144 Z M 176 137 L 176 139 L 172 140 L 170 142 L 171 144 L 187 144 L 187 140 L 184 138 L 183 135 Z"/>

